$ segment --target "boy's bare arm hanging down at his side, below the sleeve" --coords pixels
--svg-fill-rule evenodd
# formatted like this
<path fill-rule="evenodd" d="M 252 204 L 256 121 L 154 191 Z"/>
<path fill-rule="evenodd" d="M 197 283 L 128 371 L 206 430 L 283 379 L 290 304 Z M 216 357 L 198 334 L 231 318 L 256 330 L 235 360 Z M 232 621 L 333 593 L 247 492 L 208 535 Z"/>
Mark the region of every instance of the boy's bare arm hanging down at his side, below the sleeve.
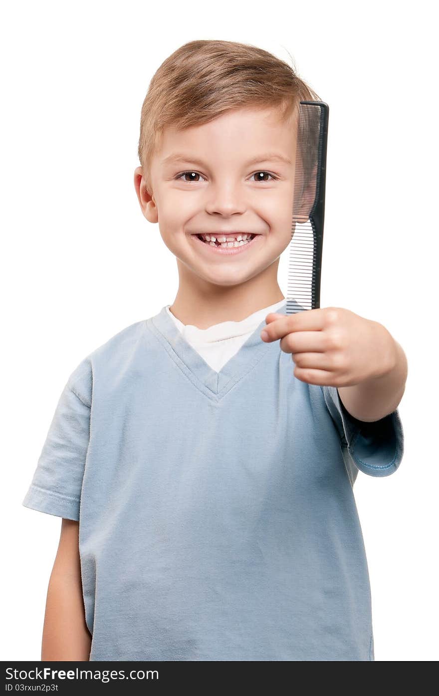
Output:
<path fill-rule="evenodd" d="M 88 661 L 90 647 L 82 596 L 79 522 L 63 518 L 47 590 L 41 661 Z"/>

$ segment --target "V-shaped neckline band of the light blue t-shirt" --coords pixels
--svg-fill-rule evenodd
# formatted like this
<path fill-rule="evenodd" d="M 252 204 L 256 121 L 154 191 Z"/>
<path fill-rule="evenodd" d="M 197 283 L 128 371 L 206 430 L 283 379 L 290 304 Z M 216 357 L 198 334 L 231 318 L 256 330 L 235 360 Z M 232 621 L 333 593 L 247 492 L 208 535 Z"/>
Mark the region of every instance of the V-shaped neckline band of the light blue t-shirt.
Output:
<path fill-rule="evenodd" d="M 277 314 L 286 314 L 287 300 L 276 310 Z M 267 312 L 267 314 L 269 314 Z M 242 379 L 253 367 L 259 363 L 269 349 L 273 349 L 273 343 L 265 343 L 260 333 L 264 328 L 265 317 L 256 327 L 255 331 L 248 336 L 247 340 L 241 345 L 237 353 L 232 355 L 230 360 L 221 367 L 219 372 L 213 370 L 198 351 L 186 341 L 182 333 L 173 322 L 173 319 L 166 312 L 166 306 L 154 317 L 146 319 L 148 329 L 154 333 L 168 352 L 170 358 L 179 366 L 180 370 L 186 374 L 195 386 L 197 386 L 207 397 L 220 400 L 234 386 L 239 379 Z"/>

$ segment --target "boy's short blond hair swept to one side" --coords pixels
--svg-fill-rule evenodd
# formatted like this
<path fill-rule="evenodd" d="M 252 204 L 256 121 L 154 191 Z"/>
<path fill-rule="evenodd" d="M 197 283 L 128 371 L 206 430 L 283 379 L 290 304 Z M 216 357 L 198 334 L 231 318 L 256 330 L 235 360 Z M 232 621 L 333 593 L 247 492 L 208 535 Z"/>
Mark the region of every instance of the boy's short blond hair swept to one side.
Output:
<path fill-rule="evenodd" d="M 202 125 L 248 106 L 278 109 L 286 120 L 303 100 L 320 98 L 295 68 L 264 49 L 221 40 L 185 43 L 154 73 L 142 105 L 138 159 L 147 191 L 154 148 L 166 127 Z"/>

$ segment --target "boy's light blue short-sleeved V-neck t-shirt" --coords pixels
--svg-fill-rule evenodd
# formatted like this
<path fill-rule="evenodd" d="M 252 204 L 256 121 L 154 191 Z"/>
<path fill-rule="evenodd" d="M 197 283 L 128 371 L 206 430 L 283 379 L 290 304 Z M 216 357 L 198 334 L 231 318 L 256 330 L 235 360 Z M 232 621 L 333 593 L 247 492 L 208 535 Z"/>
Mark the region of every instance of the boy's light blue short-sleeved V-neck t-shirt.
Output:
<path fill-rule="evenodd" d="M 23 505 L 79 520 L 90 661 L 374 660 L 353 483 L 397 470 L 399 413 L 351 417 L 264 326 L 216 372 L 163 307 L 70 374 Z"/>

